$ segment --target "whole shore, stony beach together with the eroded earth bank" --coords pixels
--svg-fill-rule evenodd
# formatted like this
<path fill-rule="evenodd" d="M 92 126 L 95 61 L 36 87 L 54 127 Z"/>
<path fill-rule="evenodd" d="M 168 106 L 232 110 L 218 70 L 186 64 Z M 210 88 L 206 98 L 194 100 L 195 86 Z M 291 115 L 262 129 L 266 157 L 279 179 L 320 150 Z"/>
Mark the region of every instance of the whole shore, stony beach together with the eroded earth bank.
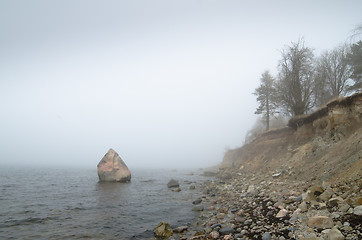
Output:
<path fill-rule="evenodd" d="M 168 239 L 362 239 L 361 110 L 357 92 L 228 150 Z"/>

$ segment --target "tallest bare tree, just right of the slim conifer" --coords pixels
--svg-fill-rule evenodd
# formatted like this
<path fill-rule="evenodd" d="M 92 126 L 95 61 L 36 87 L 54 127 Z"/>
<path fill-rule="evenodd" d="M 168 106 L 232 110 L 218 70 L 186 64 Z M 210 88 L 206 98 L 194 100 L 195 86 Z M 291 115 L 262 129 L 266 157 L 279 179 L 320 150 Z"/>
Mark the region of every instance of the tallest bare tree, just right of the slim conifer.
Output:
<path fill-rule="evenodd" d="M 313 62 L 312 49 L 305 47 L 301 39 L 282 51 L 277 85 L 279 102 L 293 116 L 306 113 L 314 105 Z"/>

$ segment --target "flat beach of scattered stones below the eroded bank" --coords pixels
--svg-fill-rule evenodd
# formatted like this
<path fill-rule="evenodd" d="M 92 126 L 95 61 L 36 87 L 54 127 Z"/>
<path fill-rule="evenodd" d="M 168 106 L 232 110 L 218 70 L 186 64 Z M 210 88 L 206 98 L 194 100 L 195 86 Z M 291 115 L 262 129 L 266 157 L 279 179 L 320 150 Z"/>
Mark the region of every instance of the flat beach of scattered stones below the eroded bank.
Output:
<path fill-rule="evenodd" d="M 223 172 L 194 190 L 197 221 L 163 239 L 362 239 L 361 187 L 360 178 L 317 184 Z"/>

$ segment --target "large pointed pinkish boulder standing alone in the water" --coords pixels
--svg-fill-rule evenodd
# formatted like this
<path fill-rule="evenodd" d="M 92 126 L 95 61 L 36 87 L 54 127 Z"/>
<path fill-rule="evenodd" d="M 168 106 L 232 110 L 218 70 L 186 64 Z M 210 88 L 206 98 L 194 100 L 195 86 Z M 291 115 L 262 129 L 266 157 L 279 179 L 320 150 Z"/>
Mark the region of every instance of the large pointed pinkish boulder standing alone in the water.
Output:
<path fill-rule="evenodd" d="M 129 182 L 131 172 L 121 157 L 112 148 L 97 165 L 98 177 L 101 182 Z"/>

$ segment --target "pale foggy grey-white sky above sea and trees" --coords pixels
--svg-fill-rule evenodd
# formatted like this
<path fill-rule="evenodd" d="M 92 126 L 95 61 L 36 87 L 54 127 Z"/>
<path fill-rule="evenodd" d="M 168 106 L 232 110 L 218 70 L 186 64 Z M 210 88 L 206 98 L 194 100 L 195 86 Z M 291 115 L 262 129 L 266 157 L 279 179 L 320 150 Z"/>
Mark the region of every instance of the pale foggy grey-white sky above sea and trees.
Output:
<path fill-rule="evenodd" d="M 2 0 L 0 165 L 220 163 L 261 74 L 303 38 L 351 41 L 362 1 Z"/>

